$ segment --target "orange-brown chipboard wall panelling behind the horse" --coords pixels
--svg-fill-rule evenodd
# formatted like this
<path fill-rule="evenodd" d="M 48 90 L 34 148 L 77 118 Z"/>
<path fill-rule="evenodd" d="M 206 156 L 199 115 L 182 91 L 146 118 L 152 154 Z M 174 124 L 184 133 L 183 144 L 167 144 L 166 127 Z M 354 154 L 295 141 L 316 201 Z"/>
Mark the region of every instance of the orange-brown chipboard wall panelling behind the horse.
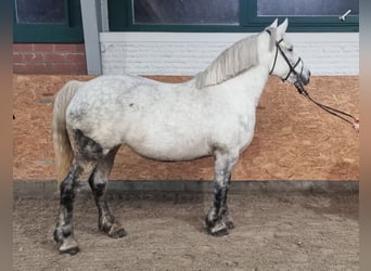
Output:
<path fill-rule="evenodd" d="M 14 75 L 14 180 L 55 180 L 51 141 L 53 95 L 72 79 L 91 76 Z M 189 77 L 159 77 L 183 81 Z M 355 76 L 311 77 L 308 91 L 318 101 L 358 116 Z M 163 163 L 121 146 L 111 180 L 213 180 L 213 157 Z M 255 137 L 234 168 L 233 180 L 358 180 L 359 134 L 322 112 L 294 86 L 270 78 L 257 108 Z"/>

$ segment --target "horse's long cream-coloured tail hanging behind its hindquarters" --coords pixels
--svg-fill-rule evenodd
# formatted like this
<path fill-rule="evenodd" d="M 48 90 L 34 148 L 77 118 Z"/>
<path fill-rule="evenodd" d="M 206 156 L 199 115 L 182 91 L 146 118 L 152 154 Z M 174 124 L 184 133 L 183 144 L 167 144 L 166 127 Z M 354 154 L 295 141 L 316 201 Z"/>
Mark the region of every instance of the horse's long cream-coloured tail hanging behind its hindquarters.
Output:
<path fill-rule="evenodd" d="M 66 108 L 81 83 L 76 80 L 68 81 L 56 93 L 54 100 L 52 130 L 57 175 L 56 180 L 59 183 L 67 176 L 74 158 L 66 129 Z"/>

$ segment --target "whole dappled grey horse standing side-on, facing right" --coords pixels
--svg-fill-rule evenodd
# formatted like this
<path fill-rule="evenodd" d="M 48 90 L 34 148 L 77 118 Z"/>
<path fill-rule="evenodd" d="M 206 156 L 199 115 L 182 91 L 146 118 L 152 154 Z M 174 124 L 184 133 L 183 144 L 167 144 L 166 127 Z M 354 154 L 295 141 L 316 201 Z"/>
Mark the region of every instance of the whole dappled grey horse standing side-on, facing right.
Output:
<path fill-rule="evenodd" d="M 53 144 L 61 203 L 54 240 L 76 254 L 73 206 L 78 183 L 89 181 L 99 229 L 126 235 L 105 199 L 117 150 L 127 144 L 157 160 L 215 157 L 215 198 L 206 216 L 213 235 L 233 228 L 227 207 L 231 172 L 251 143 L 255 114 L 269 75 L 307 85 L 310 72 L 285 38 L 287 20 L 223 51 L 204 72 L 182 83 L 132 75 L 69 81 L 55 96 Z"/>

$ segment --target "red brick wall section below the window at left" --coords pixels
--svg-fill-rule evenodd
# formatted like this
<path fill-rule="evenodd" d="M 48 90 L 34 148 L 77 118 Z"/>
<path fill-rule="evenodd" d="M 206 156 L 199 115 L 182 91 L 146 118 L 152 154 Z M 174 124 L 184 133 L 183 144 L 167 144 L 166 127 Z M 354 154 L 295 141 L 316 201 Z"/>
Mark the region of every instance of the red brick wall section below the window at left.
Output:
<path fill-rule="evenodd" d="M 87 74 L 84 43 L 15 43 L 15 74 Z"/>

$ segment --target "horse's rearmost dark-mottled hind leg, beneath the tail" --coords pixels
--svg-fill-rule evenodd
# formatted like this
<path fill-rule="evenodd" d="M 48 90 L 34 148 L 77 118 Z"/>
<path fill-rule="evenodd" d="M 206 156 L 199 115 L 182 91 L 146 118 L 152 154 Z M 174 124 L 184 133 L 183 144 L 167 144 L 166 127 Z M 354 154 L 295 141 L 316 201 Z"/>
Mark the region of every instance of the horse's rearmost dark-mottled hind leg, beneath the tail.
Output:
<path fill-rule="evenodd" d="M 61 182 L 61 202 L 59 221 L 54 230 L 54 240 L 60 243 L 60 253 L 74 255 L 78 244 L 74 236 L 73 209 L 76 190 L 80 181 L 87 181 L 99 159 L 103 157 L 102 147 L 79 130 L 72 132 L 72 145 L 75 158 L 67 177 Z"/>

